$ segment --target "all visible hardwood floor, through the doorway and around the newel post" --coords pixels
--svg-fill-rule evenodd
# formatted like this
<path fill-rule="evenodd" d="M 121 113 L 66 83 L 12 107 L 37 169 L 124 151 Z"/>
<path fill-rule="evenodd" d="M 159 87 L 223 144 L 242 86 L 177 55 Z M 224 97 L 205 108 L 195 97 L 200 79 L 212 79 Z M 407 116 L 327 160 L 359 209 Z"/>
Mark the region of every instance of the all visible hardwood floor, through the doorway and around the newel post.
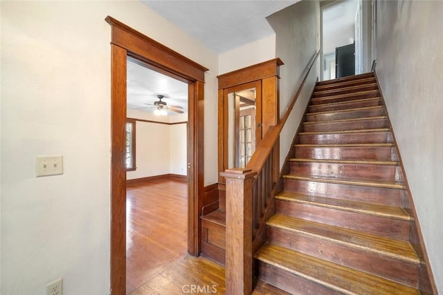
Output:
<path fill-rule="evenodd" d="M 177 180 L 127 187 L 127 294 L 225 294 L 224 267 L 187 253 L 187 190 Z M 288 293 L 259 280 L 253 294 Z"/>

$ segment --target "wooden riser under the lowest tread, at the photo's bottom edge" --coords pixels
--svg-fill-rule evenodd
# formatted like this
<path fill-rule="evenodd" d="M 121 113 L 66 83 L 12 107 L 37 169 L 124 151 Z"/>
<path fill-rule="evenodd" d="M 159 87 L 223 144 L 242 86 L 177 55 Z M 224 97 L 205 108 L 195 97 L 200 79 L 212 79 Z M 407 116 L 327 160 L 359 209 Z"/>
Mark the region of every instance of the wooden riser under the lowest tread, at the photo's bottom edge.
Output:
<path fill-rule="evenodd" d="M 266 283 L 274 285 L 291 294 L 322 294 L 322 295 L 340 295 L 342 293 L 335 292 L 328 287 L 314 283 L 311 280 L 296 276 L 273 265 L 269 265 L 260 261 L 259 263 L 259 279 Z"/>

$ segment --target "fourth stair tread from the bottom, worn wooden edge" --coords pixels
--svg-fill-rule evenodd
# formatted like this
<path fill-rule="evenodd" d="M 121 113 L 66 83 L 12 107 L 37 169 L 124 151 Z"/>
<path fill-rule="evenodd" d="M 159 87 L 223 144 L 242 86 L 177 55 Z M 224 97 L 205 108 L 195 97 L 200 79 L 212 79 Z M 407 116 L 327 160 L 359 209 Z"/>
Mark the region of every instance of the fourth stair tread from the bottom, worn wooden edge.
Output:
<path fill-rule="evenodd" d="M 305 176 L 305 175 L 295 175 L 295 174 L 286 174 L 283 175 L 283 178 L 293 179 L 293 180 L 314 181 L 314 182 L 328 182 L 336 184 L 350 184 L 350 185 L 359 185 L 364 187 L 383 187 L 386 189 L 406 189 L 405 185 L 401 182 L 389 182 L 381 180 L 361 180 L 361 179 L 352 179 L 352 178 Z"/>

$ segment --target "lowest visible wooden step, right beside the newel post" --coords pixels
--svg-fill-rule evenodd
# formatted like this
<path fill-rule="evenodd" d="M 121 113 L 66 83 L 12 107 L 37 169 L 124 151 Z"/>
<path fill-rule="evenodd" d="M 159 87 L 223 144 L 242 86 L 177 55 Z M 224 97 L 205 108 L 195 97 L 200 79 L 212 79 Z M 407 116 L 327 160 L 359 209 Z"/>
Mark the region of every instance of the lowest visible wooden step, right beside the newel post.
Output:
<path fill-rule="evenodd" d="M 296 292 L 288 287 L 301 289 L 308 284 L 316 292 L 334 294 L 420 294 L 417 289 L 359 272 L 349 267 L 343 267 L 326 260 L 321 260 L 306 254 L 301 254 L 284 247 L 265 244 L 257 252 L 255 258 L 260 261 L 260 279 L 267 281 L 287 292 Z M 266 269 L 269 271 L 266 272 Z M 282 273 L 286 276 L 282 276 Z M 279 276 L 275 281 L 274 278 Z M 285 283 L 282 278 L 291 280 Z M 295 280 L 293 280 L 295 278 Z M 300 279 L 300 280 L 297 280 Z M 297 284 L 294 282 L 297 281 Z"/>

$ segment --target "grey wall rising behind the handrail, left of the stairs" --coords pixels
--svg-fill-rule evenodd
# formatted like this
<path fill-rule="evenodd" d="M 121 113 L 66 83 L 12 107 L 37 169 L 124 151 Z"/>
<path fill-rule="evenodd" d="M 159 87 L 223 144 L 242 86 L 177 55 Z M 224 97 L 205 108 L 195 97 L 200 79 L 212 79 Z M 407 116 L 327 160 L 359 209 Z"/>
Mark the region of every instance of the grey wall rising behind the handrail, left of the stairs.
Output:
<path fill-rule="evenodd" d="M 301 1 L 275 12 L 266 19 L 276 35 L 275 56 L 284 62 L 284 66 L 280 66 L 282 117 L 302 81 L 306 66 L 320 48 L 320 5 L 318 1 Z M 293 135 L 305 112 L 316 77 L 320 75 L 318 62 L 314 69 L 280 135 L 280 166 L 286 158 Z"/>

